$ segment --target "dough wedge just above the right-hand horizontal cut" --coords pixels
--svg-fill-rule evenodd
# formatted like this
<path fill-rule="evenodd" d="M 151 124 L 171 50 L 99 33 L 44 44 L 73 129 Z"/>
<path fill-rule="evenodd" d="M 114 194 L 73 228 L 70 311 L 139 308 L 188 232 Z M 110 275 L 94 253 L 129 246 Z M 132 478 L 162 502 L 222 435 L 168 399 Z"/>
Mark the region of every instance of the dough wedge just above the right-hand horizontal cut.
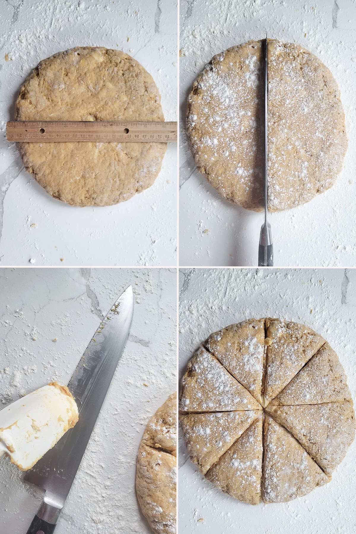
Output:
<path fill-rule="evenodd" d="M 325 343 L 270 406 L 344 402 L 351 398 L 343 366 L 329 343 Z"/>

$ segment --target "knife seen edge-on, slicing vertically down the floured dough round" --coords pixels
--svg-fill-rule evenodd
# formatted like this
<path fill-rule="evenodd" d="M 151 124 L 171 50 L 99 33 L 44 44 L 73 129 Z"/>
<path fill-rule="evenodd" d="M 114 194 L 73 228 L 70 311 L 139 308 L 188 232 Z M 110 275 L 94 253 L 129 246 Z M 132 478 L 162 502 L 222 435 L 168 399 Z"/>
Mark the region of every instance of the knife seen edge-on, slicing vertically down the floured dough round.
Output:
<path fill-rule="evenodd" d="M 273 267 L 273 243 L 268 211 L 268 42 L 265 41 L 265 222 L 261 226 L 258 245 L 258 266 Z"/>

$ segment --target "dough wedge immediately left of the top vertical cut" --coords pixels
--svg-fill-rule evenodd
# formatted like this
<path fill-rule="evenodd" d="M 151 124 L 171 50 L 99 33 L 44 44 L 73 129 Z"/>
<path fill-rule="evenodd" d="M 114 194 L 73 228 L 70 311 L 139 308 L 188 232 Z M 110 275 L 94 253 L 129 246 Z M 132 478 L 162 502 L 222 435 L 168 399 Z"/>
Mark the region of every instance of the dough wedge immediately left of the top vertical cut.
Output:
<path fill-rule="evenodd" d="M 205 347 L 262 404 L 265 320 L 250 319 L 211 334 Z"/>

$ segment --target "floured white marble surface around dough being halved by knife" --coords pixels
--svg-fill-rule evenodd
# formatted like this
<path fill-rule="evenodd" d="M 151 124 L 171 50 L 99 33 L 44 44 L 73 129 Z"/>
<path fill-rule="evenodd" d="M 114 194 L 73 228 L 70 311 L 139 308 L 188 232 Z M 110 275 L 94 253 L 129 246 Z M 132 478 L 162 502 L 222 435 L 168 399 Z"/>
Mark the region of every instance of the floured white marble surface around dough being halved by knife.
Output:
<path fill-rule="evenodd" d="M 263 215 L 225 201 L 196 171 L 185 134 L 186 98 L 212 56 L 268 37 L 296 42 L 333 73 L 349 138 L 344 167 L 326 193 L 270 215 L 276 266 L 353 266 L 356 262 L 356 4 L 353 0 L 181 0 L 179 265 L 256 265 Z M 204 230 L 209 230 L 205 232 Z"/>

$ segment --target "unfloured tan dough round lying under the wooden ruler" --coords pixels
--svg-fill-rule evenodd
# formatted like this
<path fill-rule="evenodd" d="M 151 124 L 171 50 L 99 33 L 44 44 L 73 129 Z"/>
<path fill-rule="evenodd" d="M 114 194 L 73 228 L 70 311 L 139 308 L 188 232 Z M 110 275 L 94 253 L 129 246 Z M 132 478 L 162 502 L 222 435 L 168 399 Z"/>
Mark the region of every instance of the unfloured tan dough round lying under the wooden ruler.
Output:
<path fill-rule="evenodd" d="M 41 61 L 20 88 L 19 121 L 164 120 L 160 93 L 136 59 L 85 46 Z M 19 143 L 26 170 L 72 206 L 110 206 L 150 187 L 165 143 Z"/>

